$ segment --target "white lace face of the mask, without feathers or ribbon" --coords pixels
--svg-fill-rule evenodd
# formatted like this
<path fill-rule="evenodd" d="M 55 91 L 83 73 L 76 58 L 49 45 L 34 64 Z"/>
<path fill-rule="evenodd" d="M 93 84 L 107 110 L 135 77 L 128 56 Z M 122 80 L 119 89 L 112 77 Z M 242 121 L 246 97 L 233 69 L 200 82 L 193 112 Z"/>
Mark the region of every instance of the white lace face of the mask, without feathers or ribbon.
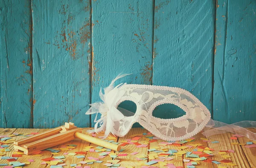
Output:
<path fill-rule="evenodd" d="M 181 88 L 127 84 L 120 87 L 120 90 L 125 90 L 125 95 L 116 101 L 116 107 L 126 100 L 134 101 L 137 105 L 133 116 L 114 122 L 113 132 L 120 137 L 138 122 L 163 140 L 185 140 L 200 132 L 210 119 L 209 110 L 194 95 Z M 156 106 L 166 103 L 179 106 L 186 115 L 173 119 L 152 116 Z"/>

